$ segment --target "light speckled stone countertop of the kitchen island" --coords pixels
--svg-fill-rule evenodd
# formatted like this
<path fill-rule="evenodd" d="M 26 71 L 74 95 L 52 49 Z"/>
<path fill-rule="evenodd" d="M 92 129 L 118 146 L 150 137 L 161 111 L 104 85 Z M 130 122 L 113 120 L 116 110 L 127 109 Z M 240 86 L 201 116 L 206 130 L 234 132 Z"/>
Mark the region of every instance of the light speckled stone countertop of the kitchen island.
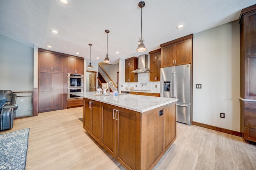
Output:
<path fill-rule="evenodd" d="M 123 107 L 125 109 L 138 111 L 140 113 L 178 101 L 178 99 L 174 98 L 162 98 L 134 94 L 118 94 L 118 96 L 94 96 L 95 93 L 96 92 L 74 92 L 70 94 L 118 107 Z"/>

